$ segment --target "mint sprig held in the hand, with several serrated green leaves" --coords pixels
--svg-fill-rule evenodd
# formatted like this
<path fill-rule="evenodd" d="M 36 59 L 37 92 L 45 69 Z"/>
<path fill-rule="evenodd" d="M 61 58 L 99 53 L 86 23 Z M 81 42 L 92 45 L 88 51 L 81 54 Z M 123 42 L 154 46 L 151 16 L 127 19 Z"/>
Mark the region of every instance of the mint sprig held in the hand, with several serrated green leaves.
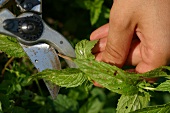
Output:
<path fill-rule="evenodd" d="M 150 91 L 169 91 L 168 66 L 163 66 L 144 74 L 126 72 L 116 66 L 95 60 L 91 49 L 97 41 L 83 40 L 75 47 L 76 58 L 70 58 L 78 65 L 78 68 L 66 68 L 63 70 L 45 70 L 33 78 L 49 80 L 61 87 L 76 87 L 86 81 L 96 81 L 104 88 L 121 94 L 117 104 L 117 113 L 164 113 L 169 104 L 163 106 L 148 107 Z M 67 58 L 68 56 L 64 56 Z M 162 83 L 148 83 L 146 78 L 165 78 Z"/>

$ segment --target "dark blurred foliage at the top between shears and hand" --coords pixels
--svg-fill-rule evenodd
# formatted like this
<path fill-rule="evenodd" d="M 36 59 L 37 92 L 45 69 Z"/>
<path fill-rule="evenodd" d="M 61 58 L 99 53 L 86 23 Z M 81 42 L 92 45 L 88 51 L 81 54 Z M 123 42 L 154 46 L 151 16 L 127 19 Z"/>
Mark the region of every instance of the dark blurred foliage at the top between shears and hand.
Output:
<path fill-rule="evenodd" d="M 72 44 L 89 39 L 90 33 L 108 22 L 112 0 L 48 0 L 43 19 Z"/>

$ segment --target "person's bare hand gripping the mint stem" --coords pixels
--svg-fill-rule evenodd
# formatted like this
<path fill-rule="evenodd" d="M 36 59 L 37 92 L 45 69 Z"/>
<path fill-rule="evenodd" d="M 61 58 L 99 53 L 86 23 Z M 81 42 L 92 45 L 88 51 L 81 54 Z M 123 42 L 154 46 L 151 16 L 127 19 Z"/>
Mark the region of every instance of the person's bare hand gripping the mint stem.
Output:
<path fill-rule="evenodd" d="M 144 73 L 170 64 L 170 0 L 114 0 L 109 23 L 91 40 L 96 60 Z"/>

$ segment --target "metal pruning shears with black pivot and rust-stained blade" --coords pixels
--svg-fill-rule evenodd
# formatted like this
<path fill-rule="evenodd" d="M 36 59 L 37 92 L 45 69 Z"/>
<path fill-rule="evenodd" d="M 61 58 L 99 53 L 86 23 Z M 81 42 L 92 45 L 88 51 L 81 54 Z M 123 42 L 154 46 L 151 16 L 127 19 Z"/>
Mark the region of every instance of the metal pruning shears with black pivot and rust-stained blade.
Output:
<path fill-rule="evenodd" d="M 7 5 L 19 7 L 19 16 Z M 42 0 L 0 0 L 0 33 L 15 37 L 38 71 L 61 69 L 58 53 L 75 57 L 71 44 L 60 33 L 42 20 Z M 66 60 L 70 68 L 76 65 Z M 59 86 L 44 80 L 51 96 L 55 98 Z"/>

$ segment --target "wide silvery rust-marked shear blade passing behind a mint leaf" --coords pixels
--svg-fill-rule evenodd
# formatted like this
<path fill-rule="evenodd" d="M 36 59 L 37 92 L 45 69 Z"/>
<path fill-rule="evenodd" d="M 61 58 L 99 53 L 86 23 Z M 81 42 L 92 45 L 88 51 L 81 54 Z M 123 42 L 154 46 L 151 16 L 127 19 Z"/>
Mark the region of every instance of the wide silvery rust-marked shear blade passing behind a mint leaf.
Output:
<path fill-rule="evenodd" d="M 61 69 L 60 60 L 54 48 L 43 43 L 33 46 L 27 46 L 20 43 L 24 51 L 27 53 L 31 62 L 39 72 L 45 69 Z M 44 80 L 53 99 L 56 98 L 60 87 Z"/>

